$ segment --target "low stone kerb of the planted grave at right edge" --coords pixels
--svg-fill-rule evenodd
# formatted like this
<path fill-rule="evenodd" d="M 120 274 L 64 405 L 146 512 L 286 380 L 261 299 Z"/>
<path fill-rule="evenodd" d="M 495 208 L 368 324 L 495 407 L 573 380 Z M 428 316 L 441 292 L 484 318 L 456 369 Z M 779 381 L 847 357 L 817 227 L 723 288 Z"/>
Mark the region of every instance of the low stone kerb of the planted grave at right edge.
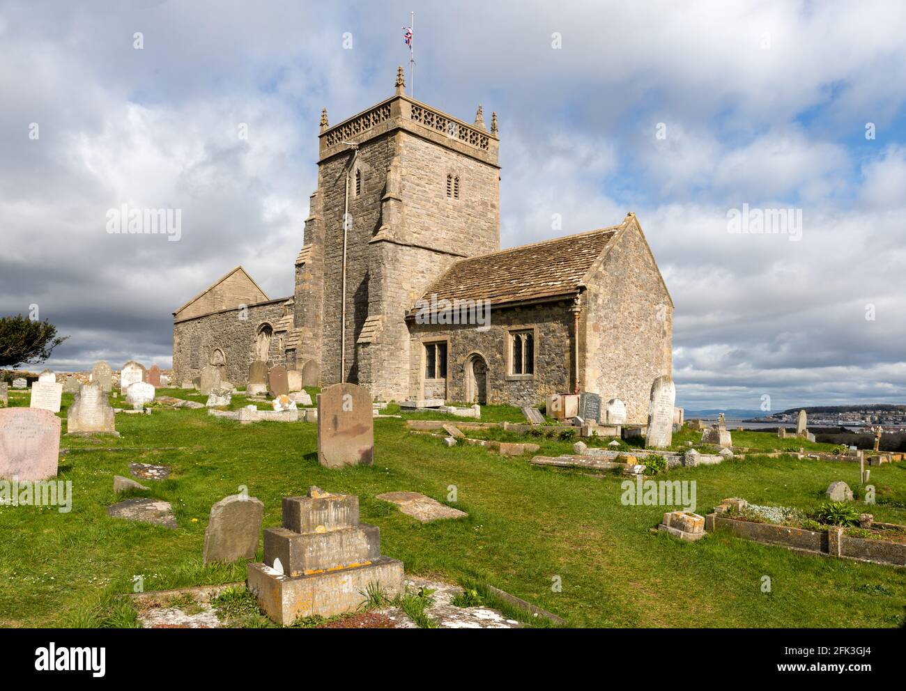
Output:
<path fill-rule="evenodd" d="M 724 499 L 712 513 L 705 516 L 705 530 L 711 533 L 718 528 L 723 528 L 744 540 L 776 544 L 791 550 L 829 554 L 842 559 L 906 566 L 906 543 L 879 538 L 853 537 L 845 533 L 845 528 L 834 525 L 828 526 L 826 532 L 811 531 L 776 523 L 752 523 L 727 515 L 730 508 L 741 511 L 746 507 L 745 499 Z M 871 518 L 867 514 L 865 517 Z M 906 531 L 906 525 L 875 523 L 873 520 L 866 523 L 864 527 L 880 533 L 885 530 L 897 533 Z"/>

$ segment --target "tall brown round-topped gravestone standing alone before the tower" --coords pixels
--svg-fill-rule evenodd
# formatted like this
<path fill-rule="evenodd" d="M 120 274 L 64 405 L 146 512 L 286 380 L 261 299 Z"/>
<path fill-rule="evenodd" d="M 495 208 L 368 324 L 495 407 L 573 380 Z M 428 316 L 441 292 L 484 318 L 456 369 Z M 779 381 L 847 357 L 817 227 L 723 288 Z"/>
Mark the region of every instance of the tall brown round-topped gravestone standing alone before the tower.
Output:
<path fill-rule="evenodd" d="M 318 462 L 329 468 L 374 461 L 371 395 L 355 384 L 333 384 L 318 394 Z"/>

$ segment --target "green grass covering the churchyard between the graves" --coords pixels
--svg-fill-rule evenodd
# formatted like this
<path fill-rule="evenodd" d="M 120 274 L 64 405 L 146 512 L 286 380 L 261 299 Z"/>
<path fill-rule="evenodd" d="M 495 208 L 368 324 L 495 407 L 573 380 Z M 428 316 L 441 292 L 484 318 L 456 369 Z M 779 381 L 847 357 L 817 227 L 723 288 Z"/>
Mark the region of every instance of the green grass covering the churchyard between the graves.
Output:
<path fill-rule="evenodd" d="M 176 389 L 159 393 L 204 399 Z M 27 396 L 10 399 L 27 405 Z M 64 407 L 71 403 L 65 394 Z M 245 399 L 234 397 L 233 407 L 242 405 Z M 483 413 L 485 421 L 523 420 L 518 408 Z M 62 457 L 59 479 L 72 481 L 71 513 L 0 506 L 0 626 L 115 625 L 121 619 L 104 619 L 108 610 L 99 603 L 109 602 L 111 593 L 130 592 L 135 575 L 143 576 L 146 591 L 243 581 L 244 564 L 201 563 L 210 506 L 236 494 L 239 485 L 264 502 L 265 527 L 280 524 L 282 497 L 304 494 L 309 485 L 359 494 L 361 520 L 381 527 L 382 552 L 402 560 L 408 573 L 487 582 L 571 626 L 903 623 L 906 569 L 804 555 L 726 533 L 679 542 L 649 531 L 670 507 L 623 505 L 618 476 L 533 467 L 530 456 L 507 458 L 479 446 L 448 448 L 436 437 L 410 434 L 400 419 L 375 420 L 373 466 L 342 471 L 318 465 L 310 423 L 240 426 L 205 410 L 169 408 L 150 416 L 118 415 L 116 422 L 120 438 L 63 437 L 70 453 Z M 544 455 L 572 449 L 570 441 L 500 434 L 535 441 Z M 675 446 L 699 437 L 684 430 Z M 756 432 L 733 437 L 737 446 L 752 448 L 830 447 Z M 112 476 L 128 476 L 130 462 L 172 468 L 168 480 L 144 483 L 152 490 L 140 495 L 169 501 L 177 530 L 107 516 L 107 506 L 117 501 Z M 696 511 L 704 514 L 728 496 L 809 509 L 821 504 L 834 480 L 844 480 L 859 496 L 858 474 L 858 464 L 750 455 L 657 479 L 697 481 Z M 466 519 L 422 524 L 374 498 L 414 490 L 446 502 L 450 485 L 458 494 L 452 505 L 469 513 Z M 872 485 L 878 504 L 864 510 L 878 521 L 906 523 L 906 464 L 873 467 Z M 763 576 L 771 579 L 769 593 L 761 591 Z M 555 577 L 559 592 L 552 590 Z"/>

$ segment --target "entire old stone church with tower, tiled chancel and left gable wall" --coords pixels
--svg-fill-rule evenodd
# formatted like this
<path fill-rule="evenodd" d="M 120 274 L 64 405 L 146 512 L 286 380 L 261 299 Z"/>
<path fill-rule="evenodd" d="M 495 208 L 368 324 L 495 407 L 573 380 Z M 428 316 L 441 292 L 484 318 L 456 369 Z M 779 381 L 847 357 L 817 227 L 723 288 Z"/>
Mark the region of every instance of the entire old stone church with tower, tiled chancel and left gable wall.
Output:
<path fill-rule="evenodd" d="M 673 302 L 634 214 L 500 249 L 500 133 L 389 99 L 331 126 L 295 258 L 270 298 L 237 266 L 173 312 L 177 382 L 206 365 L 239 386 L 249 366 L 350 381 L 375 400 L 534 406 L 554 393 L 621 398 L 648 417 L 671 373 Z"/>

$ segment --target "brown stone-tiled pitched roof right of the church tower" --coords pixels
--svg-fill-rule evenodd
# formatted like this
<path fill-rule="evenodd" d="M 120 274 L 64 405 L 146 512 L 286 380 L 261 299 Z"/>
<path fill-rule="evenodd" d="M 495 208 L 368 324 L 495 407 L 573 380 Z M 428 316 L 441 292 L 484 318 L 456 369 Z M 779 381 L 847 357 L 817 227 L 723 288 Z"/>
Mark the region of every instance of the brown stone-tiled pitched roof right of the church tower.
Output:
<path fill-rule="evenodd" d="M 438 300 L 506 304 L 575 293 L 620 228 L 622 225 L 599 228 L 461 259 L 429 287 L 422 299 L 430 302 L 436 293 Z"/>

